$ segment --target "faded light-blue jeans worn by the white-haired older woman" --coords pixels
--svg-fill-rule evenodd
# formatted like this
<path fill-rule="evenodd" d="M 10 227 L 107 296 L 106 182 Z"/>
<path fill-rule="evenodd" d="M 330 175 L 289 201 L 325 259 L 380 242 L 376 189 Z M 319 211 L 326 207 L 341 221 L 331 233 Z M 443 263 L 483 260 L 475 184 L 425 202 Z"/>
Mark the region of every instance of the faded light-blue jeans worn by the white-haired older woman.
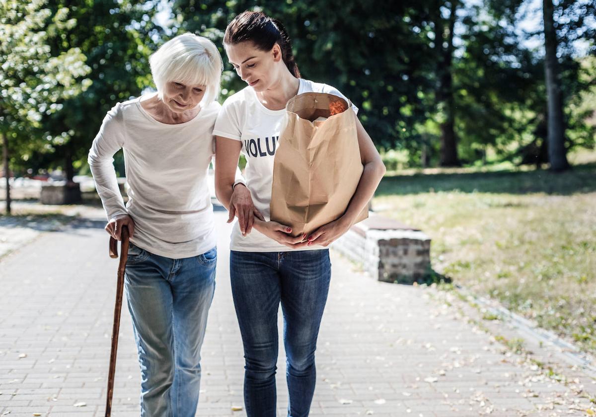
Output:
<path fill-rule="evenodd" d="M 141 417 L 194 417 L 217 250 L 170 259 L 132 245 L 125 287 L 141 366 Z"/>

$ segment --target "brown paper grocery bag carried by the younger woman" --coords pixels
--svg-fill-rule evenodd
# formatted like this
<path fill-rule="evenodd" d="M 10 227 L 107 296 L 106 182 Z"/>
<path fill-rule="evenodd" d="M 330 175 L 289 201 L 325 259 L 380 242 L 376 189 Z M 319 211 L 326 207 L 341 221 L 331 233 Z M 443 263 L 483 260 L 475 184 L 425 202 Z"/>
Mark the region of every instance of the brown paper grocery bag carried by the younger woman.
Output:
<path fill-rule="evenodd" d="M 291 98 L 275 152 L 271 220 L 299 236 L 338 219 L 363 169 L 351 102 L 313 92 Z M 357 221 L 367 217 L 365 207 Z"/>

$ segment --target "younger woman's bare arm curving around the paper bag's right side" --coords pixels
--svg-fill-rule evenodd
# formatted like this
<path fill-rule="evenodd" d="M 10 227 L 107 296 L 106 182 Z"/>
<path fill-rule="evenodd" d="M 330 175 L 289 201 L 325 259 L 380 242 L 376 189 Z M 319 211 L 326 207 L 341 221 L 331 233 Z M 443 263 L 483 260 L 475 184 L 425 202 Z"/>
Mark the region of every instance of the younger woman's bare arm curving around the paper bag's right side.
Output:
<path fill-rule="evenodd" d="M 342 217 L 321 226 L 308 236 L 309 246 L 327 246 L 347 232 L 356 221 L 358 214 L 364 210 L 368 201 L 373 198 L 378 184 L 381 182 L 383 175 L 385 175 L 385 166 L 383 160 L 381 160 L 381 155 L 378 154 L 373 140 L 364 129 L 364 126 L 362 126 L 362 123 L 360 123 L 360 120 L 358 120 L 358 117 L 356 117 L 356 133 L 358 134 L 360 157 L 364 165 L 356 192 Z"/>

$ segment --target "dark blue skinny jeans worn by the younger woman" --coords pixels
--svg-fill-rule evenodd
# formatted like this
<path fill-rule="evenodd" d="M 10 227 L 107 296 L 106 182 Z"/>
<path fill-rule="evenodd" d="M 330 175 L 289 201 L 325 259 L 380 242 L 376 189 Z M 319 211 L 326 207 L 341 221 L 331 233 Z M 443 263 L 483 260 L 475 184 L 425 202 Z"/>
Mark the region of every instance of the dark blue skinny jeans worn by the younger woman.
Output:
<path fill-rule="evenodd" d="M 315 392 L 316 338 L 331 279 L 329 251 L 231 251 L 230 278 L 244 344 L 247 416 L 276 415 L 280 302 L 290 397 L 288 416 L 308 416 Z"/>

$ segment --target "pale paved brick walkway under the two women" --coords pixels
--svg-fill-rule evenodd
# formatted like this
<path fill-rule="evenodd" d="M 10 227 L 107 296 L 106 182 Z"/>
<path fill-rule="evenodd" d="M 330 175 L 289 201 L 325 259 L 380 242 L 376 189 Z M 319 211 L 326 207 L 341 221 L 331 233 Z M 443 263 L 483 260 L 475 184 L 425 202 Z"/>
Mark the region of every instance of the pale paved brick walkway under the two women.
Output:
<path fill-rule="evenodd" d="M 243 416 L 243 353 L 216 212 L 218 278 L 198 416 Z M 0 416 L 103 416 L 116 260 L 102 212 L 44 232 L 0 260 Z M 432 288 L 374 281 L 333 254 L 312 416 L 585 416 L 587 385 L 507 350 Z M 280 316 L 281 328 L 281 316 Z M 285 416 L 280 346 L 278 415 Z M 138 416 L 139 369 L 123 309 L 114 417 Z"/>

